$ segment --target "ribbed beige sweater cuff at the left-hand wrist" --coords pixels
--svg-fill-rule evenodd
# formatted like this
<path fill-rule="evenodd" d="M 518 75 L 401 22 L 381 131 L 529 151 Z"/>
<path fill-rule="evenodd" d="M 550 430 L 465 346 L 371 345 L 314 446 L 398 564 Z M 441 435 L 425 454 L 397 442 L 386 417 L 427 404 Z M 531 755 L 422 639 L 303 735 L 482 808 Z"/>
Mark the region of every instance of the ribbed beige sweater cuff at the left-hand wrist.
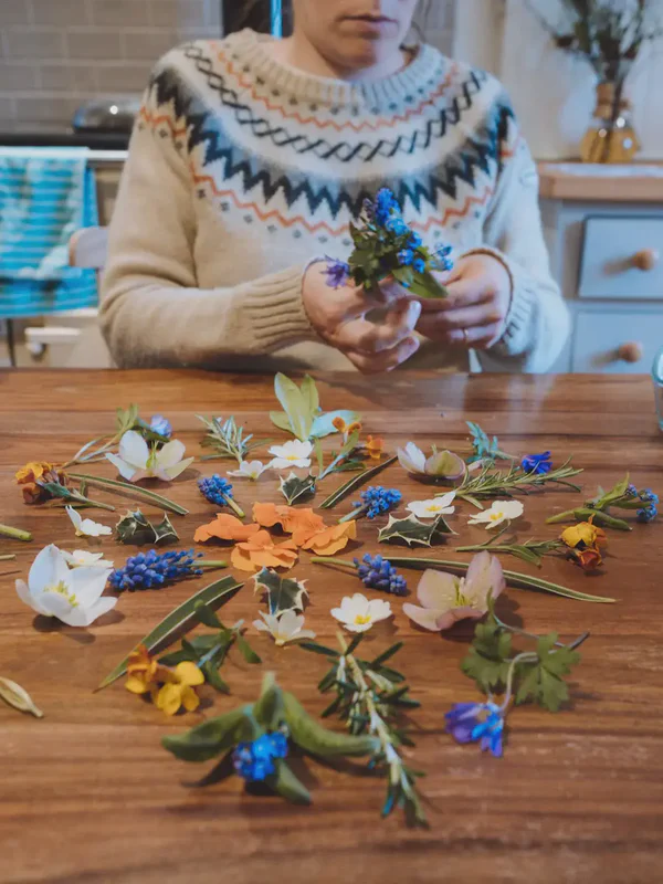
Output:
<path fill-rule="evenodd" d="M 303 340 L 317 340 L 302 301 L 305 267 L 297 265 L 240 290 L 250 327 L 264 351 Z"/>

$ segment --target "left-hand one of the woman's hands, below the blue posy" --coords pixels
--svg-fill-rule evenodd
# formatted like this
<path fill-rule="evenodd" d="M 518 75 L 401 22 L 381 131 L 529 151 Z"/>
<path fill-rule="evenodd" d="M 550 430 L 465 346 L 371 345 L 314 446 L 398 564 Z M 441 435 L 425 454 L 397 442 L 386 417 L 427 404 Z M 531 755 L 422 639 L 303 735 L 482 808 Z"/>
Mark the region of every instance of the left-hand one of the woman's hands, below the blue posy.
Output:
<path fill-rule="evenodd" d="M 302 286 L 308 319 L 320 338 L 345 354 L 366 375 L 391 371 L 419 349 L 413 334 L 421 304 L 398 284 L 383 284 L 379 297 L 362 286 L 332 288 L 324 262 L 312 264 Z M 366 314 L 386 308 L 382 322 L 372 323 Z"/>

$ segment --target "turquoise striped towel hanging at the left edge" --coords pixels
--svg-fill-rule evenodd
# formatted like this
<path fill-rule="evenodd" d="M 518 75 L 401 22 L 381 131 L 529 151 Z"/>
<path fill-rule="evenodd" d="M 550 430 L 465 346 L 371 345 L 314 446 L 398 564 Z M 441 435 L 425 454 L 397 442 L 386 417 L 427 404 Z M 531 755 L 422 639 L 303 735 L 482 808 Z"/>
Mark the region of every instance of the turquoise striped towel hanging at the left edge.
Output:
<path fill-rule="evenodd" d="M 96 274 L 69 266 L 69 241 L 98 223 L 87 148 L 0 147 L 0 318 L 91 307 Z"/>

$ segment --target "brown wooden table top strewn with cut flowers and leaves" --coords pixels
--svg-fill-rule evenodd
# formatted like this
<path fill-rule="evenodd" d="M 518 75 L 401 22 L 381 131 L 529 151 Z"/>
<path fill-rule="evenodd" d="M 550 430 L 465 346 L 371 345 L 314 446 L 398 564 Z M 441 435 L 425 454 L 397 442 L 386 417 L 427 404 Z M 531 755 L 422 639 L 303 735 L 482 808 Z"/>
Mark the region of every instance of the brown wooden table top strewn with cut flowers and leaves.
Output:
<path fill-rule="evenodd" d="M 507 451 L 551 449 L 557 463 L 573 454 L 587 471 L 588 493 L 598 483 L 611 486 L 627 470 L 636 485 L 663 491 L 663 439 L 646 377 L 396 373 L 370 379 L 336 376 L 319 387 L 326 409 L 358 409 L 367 431 L 383 435 L 389 449 L 413 439 L 466 451 L 465 420 L 474 419 L 497 433 Z M 162 591 L 125 593 L 118 614 L 88 630 L 44 628 L 13 588 L 17 573 L 27 576 L 45 544 L 65 549 L 75 545 L 62 512 L 23 505 L 12 484 L 14 471 L 28 460 L 65 461 L 87 439 L 108 430 L 116 407 L 130 402 L 139 403 L 145 417 L 168 415 L 191 454 L 200 451 L 197 413 L 234 414 L 259 436 L 275 435 L 267 418 L 274 407 L 271 378 L 186 371 L 0 373 L 0 522 L 34 533 L 32 544 L 0 538 L 0 552 L 18 555 L 15 565 L 0 562 L 0 674 L 22 684 L 45 712 L 45 718 L 36 720 L 0 704 L 3 884 L 661 881 L 660 523 L 636 525 L 629 535 L 611 533 L 598 576 L 586 576 L 564 560 L 546 561 L 544 575 L 549 579 L 614 596 L 619 604 L 508 590 L 506 615 L 528 630 L 555 629 L 571 638 L 590 629 L 592 634 L 573 678 L 572 708 L 557 715 L 516 709 L 501 760 L 482 755 L 475 745 L 459 746 L 444 733 L 448 708 L 477 697 L 459 671 L 472 628 L 423 634 L 403 615 L 400 600 L 393 601 L 393 625 L 376 628 L 369 646 L 381 650 L 393 635 L 406 643 L 401 669 L 422 703 L 413 716 L 419 728 L 413 760 L 428 771 L 422 790 L 429 832 L 409 831 L 399 814 L 380 820 L 381 781 L 350 777 L 313 760 L 306 762 L 314 794 L 311 808 L 249 797 L 234 778 L 194 790 L 188 783 L 200 769 L 173 759 L 160 747 L 160 737 L 253 699 L 263 667 L 238 663 L 233 656 L 223 671 L 232 696 L 204 687 L 207 708 L 175 719 L 129 695 L 122 683 L 98 694 L 92 691 L 152 624 L 209 578 Z M 214 469 L 197 466 L 206 475 Z M 96 469 L 113 475 L 109 464 Z M 191 544 L 194 528 L 213 515 L 192 478 L 190 472 L 170 488 L 170 496 L 191 511 L 183 519 L 173 517 L 183 545 Z M 398 466 L 382 481 L 400 487 L 407 499 L 425 496 L 427 488 Z M 330 488 L 337 482 L 338 477 L 327 481 Z M 263 501 L 280 499 L 274 478 L 264 477 L 257 492 L 236 481 L 235 493 L 249 509 L 256 493 Z M 554 537 L 557 532 L 544 526 L 544 518 L 578 499 L 565 492 L 527 498 L 520 536 Z M 480 543 L 485 534 L 466 526 L 470 512 L 463 505 L 452 525 L 459 541 Z M 114 522 L 114 514 L 93 515 Z M 361 554 L 378 551 L 375 523 L 360 523 L 360 539 Z M 130 552 L 109 538 L 102 548 L 116 561 Z M 439 547 L 433 555 L 450 557 L 450 550 Z M 505 564 L 528 568 L 515 559 Z M 319 640 L 334 642 L 336 625 L 328 611 L 344 594 L 360 590 L 360 583 L 351 575 L 309 565 L 307 554 L 292 573 L 309 581 L 307 625 Z M 409 573 L 415 587 L 417 575 Z M 252 621 L 257 609 L 246 586 L 222 609 L 222 618 Z M 275 670 L 307 707 L 322 711 L 326 701 L 316 682 L 324 660 L 296 648 L 278 650 L 255 634 L 253 641 L 265 667 Z"/>

